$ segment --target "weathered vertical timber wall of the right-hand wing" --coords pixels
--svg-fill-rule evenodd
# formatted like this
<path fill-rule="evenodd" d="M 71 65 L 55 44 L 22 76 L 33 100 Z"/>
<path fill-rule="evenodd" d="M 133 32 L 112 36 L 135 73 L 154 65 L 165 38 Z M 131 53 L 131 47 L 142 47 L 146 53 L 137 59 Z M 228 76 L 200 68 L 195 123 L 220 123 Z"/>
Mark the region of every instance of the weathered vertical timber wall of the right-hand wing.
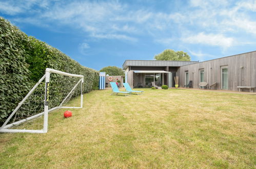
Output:
<path fill-rule="evenodd" d="M 178 69 L 179 85 L 185 85 L 185 71 L 188 71 L 193 88 L 199 88 L 200 69 L 204 69 L 204 81 L 209 85 L 217 82 L 220 90 L 222 66 L 228 67 L 228 90 L 238 91 L 238 86 L 256 87 L 256 51 L 182 66 Z"/>

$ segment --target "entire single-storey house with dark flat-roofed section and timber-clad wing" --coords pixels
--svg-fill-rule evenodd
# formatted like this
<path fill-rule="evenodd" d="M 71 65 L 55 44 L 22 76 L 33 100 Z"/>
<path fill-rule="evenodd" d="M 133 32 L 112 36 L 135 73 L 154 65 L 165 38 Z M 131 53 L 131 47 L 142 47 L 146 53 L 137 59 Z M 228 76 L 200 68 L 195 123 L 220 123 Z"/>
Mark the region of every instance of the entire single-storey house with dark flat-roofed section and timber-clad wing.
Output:
<path fill-rule="evenodd" d="M 174 87 L 175 75 L 179 76 L 180 87 L 189 80 L 192 80 L 193 88 L 199 88 L 201 81 L 209 85 L 216 82 L 216 89 L 223 90 L 238 91 L 238 86 L 256 87 L 256 51 L 203 62 L 125 60 L 123 69 L 126 82 L 132 87 L 147 86 L 150 81 L 156 82 L 157 86 Z"/>

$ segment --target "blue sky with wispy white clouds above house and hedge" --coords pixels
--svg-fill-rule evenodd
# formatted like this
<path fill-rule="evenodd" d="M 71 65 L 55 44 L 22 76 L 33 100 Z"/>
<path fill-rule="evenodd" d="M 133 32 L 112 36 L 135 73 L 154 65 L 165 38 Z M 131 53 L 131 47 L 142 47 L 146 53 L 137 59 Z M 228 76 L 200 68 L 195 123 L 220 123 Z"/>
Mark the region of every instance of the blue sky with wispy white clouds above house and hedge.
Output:
<path fill-rule="evenodd" d="M 256 50 L 256 1 L 0 0 L 0 15 L 96 70 L 165 49 L 200 61 Z"/>

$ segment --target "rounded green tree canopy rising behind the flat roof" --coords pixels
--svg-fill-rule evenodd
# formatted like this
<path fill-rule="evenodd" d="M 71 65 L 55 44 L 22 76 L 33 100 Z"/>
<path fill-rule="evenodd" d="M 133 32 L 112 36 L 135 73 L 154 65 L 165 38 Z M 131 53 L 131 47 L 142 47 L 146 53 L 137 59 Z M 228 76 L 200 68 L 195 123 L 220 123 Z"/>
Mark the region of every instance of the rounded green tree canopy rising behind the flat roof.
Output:
<path fill-rule="evenodd" d="M 190 56 L 183 51 L 175 52 L 172 49 L 166 49 L 162 53 L 154 56 L 156 60 L 179 60 L 179 61 L 190 61 Z"/>

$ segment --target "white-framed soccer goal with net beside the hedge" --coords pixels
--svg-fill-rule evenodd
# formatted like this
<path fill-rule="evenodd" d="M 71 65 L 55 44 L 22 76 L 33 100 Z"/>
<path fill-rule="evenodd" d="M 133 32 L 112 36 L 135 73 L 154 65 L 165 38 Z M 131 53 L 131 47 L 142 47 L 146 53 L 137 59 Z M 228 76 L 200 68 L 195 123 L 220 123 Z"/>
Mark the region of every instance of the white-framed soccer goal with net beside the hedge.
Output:
<path fill-rule="evenodd" d="M 83 75 L 47 68 L 1 126 L 0 133 L 47 133 L 51 111 L 83 107 L 83 83 Z"/>

